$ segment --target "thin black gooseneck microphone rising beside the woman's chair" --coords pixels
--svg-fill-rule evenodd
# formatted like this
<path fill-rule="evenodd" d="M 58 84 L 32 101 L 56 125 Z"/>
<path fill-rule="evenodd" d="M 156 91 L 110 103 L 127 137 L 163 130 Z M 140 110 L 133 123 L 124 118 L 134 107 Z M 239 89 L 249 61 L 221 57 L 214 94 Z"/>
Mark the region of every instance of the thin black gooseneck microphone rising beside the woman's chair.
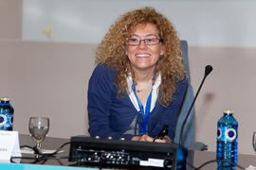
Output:
<path fill-rule="evenodd" d="M 196 94 L 195 94 L 193 100 L 192 100 L 191 108 L 190 108 L 190 110 L 188 111 L 188 113 L 187 113 L 187 115 L 186 115 L 186 118 L 184 119 L 183 124 L 182 124 L 182 126 L 181 126 L 181 128 L 180 128 L 179 143 L 178 143 L 178 144 L 182 144 L 182 136 L 183 136 L 183 130 L 184 130 L 185 124 L 186 124 L 186 122 L 187 122 L 187 120 L 188 120 L 188 118 L 189 118 L 189 116 L 190 116 L 190 113 L 191 113 L 191 111 L 192 111 L 192 107 L 193 107 L 194 102 L 195 102 L 195 100 L 196 100 L 196 98 L 197 98 L 197 95 L 198 95 L 198 93 L 200 92 L 200 90 L 201 90 L 201 88 L 202 88 L 202 86 L 203 86 L 203 84 L 204 84 L 204 82 L 205 82 L 206 77 L 209 76 L 209 74 L 210 74 L 211 71 L 212 71 L 211 65 L 207 65 L 206 68 L 205 68 L 205 76 L 204 76 L 204 78 L 203 78 L 203 80 L 202 80 L 202 82 L 201 82 L 201 84 L 200 84 L 200 86 L 199 86 L 199 88 L 198 88 L 198 90 L 197 90 L 197 92 L 196 92 Z"/>

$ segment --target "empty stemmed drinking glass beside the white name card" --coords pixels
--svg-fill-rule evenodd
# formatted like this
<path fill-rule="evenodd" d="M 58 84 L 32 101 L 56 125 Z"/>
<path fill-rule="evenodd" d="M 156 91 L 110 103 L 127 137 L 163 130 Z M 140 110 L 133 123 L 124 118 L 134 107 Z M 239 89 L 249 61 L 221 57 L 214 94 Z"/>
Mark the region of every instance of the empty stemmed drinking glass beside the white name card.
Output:
<path fill-rule="evenodd" d="M 46 138 L 46 134 L 49 130 L 49 118 L 48 117 L 30 117 L 29 118 L 29 133 L 33 141 L 36 143 L 37 149 L 40 150 L 42 142 Z"/>

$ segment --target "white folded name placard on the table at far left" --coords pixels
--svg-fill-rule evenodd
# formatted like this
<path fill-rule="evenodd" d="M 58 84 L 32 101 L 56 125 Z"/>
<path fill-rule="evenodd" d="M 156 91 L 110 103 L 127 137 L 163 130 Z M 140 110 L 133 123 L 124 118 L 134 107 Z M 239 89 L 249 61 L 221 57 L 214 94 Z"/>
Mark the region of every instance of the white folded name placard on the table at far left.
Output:
<path fill-rule="evenodd" d="M 10 157 L 21 157 L 19 133 L 0 130 L 0 162 L 10 162 Z M 13 161 L 19 162 L 20 159 Z"/>

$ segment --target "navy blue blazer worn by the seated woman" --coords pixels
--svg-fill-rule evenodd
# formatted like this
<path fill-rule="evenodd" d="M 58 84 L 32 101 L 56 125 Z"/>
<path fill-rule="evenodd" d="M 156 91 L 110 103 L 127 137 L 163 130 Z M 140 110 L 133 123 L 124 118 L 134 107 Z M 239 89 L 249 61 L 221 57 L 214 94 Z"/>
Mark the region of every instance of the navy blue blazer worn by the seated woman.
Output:
<path fill-rule="evenodd" d="M 91 137 L 125 138 L 130 140 L 135 135 L 124 134 L 137 115 L 137 110 L 128 95 L 117 97 L 114 86 L 116 73 L 114 70 L 98 65 L 89 80 L 88 118 Z M 150 113 L 148 135 L 155 137 L 163 125 L 168 125 L 168 136 L 174 140 L 175 123 L 181 103 L 186 92 L 187 80 L 176 84 L 174 101 L 163 107 L 156 100 L 155 108 Z"/>

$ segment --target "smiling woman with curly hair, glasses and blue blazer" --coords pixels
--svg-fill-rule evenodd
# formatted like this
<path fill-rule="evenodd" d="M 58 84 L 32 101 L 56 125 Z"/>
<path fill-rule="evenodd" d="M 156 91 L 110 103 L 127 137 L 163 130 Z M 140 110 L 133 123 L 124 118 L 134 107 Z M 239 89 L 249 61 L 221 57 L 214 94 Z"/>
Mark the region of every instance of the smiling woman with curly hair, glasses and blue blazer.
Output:
<path fill-rule="evenodd" d="M 97 49 L 88 89 L 92 137 L 170 143 L 187 87 L 174 27 L 154 8 L 120 16 Z M 169 127 L 164 139 L 156 139 Z"/>

